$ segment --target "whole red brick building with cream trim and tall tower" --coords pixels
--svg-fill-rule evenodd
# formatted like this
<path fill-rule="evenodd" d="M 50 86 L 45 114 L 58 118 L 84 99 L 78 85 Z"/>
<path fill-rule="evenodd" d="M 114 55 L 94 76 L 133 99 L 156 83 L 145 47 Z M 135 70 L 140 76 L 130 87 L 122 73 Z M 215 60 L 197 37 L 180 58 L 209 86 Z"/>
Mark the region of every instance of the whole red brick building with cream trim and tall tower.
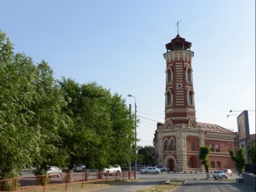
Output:
<path fill-rule="evenodd" d="M 237 134 L 221 126 L 196 121 L 194 104 L 194 52 L 178 34 L 166 44 L 165 123 L 157 123 L 154 146 L 157 165 L 169 171 L 204 171 L 199 160 L 201 146 L 210 146 L 209 169 L 235 169 L 229 150 Z"/>

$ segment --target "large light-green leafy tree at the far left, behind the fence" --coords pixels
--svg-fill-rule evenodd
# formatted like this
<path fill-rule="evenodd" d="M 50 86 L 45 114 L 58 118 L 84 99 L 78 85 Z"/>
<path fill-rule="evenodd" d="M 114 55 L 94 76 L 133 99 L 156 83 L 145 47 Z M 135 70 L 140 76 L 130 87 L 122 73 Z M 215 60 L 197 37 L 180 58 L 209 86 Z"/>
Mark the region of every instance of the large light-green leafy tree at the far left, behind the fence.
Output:
<path fill-rule="evenodd" d="M 15 177 L 33 162 L 58 159 L 56 143 L 61 108 L 65 105 L 52 70 L 44 61 L 34 65 L 25 54 L 13 53 L 0 32 L 0 170 Z M 48 154 L 51 154 L 50 156 Z"/>

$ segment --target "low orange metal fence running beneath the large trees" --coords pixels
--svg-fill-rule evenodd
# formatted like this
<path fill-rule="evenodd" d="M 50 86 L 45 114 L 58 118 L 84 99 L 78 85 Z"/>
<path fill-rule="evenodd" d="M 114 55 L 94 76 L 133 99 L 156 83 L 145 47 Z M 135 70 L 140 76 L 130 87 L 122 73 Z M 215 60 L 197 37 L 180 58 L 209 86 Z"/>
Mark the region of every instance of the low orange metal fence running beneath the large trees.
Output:
<path fill-rule="evenodd" d="M 123 171 L 121 174 L 105 175 L 103 172 L 75 172 L 75 173 L 62 173 L 58 175 L 43 175 L 43 176 L 29 176 L 29 177 L 16 177 L 12 179 L 0 180 L 0 192 L 5 191 L 29 191 L 43 188 L 54 187 L 57 185 L 65 185 L 67 190 L 68 185 L 73 183 L 80 183 L 81 188 L 88 182 L 99 182 L 108 180 L 123 180 L 134 177 L 134 171 Z"/>

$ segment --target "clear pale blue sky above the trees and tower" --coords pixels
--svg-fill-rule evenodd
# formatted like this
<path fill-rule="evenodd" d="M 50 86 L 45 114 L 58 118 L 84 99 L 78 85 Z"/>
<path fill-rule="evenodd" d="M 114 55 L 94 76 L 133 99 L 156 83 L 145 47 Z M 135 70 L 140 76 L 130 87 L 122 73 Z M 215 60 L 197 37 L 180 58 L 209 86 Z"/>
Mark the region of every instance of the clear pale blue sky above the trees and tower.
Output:
<path fill-rule="evenodd" d="M 255 0 L 1 0 L 0 30 L 15 52 L 46 60 L 56 79 L 97 82 L 132 104 L 138 145 L 165 121 L 165 44 L 192 43 L 196 118 L 237 131 L 249 112 L 255 133 Z M 229 118 L 227 118 L 227 115 Z M 151 119 L 151 120 L 149 120 Z M 154 121 L 152 121 L 154 120 Z"/>

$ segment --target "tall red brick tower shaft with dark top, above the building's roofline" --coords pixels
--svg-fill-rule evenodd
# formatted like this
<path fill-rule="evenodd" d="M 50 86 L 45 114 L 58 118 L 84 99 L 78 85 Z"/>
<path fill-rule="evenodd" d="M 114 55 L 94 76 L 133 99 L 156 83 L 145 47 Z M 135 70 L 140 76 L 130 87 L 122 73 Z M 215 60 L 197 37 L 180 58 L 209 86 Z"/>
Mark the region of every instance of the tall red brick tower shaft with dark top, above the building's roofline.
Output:
<path fill-rule="evenodd" d="M 191 43 L 178 34 L 166 44 L 165 126 L 196 125 Z"/>

